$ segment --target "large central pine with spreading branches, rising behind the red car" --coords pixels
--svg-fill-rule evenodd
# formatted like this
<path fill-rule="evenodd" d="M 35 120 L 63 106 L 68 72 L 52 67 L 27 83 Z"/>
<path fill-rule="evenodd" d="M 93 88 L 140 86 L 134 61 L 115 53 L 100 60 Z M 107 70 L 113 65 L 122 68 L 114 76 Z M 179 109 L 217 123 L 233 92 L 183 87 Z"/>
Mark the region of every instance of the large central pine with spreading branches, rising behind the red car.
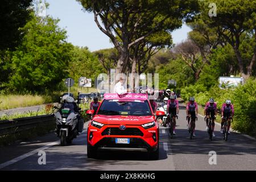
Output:
<path fill-rule="evenodd" d="M 77 0 L 85 11 L 93 12 L 94 21 L 109 36 L 119 58 L 117 73 L 124 72 L 131 47 L 148 36 L 181 27 L 182 20 L 197 10 L 197 0 Z M 101 19 L 100 24 L 98 18 Z M 131 27 L 133 25 L 133 27 Z M 137 34 L 145 30 L 144 34 Z M 140 35 L 139 37 L 136 37 Z M 119 41 L 121 40 L 121 42 Z"/>

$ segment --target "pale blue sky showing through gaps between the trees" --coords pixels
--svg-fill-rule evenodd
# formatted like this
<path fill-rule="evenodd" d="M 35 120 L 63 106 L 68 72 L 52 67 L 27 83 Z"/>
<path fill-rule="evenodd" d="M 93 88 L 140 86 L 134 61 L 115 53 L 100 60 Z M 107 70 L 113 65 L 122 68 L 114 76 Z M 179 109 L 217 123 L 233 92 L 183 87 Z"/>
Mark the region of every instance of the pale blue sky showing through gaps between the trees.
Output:
<path fill-rule="evenodd" d="M 97 27 L 93 14 L 82 11 L 76 0 L 46 0 L 49 3 L 47 15 L 59 18 L 59 26 L 65 28 L 68 42 L 75 46 L 88 47 L 90 51 L 114 47 L 108 36 Z M 179 43 L 187 39 L 191 29 L 185 25 L 172 32 L 173 42 Z"/>

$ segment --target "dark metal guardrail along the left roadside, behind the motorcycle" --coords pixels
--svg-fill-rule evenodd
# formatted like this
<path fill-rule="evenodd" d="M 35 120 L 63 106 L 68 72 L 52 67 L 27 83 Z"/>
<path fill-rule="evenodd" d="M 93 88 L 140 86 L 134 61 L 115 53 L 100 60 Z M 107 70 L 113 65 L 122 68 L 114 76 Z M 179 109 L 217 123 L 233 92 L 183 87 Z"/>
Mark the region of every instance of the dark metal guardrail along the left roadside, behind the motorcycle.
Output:
<path fill-rule="evenodd" d="M 36 117 L 17 118 L 0 121 L 0 137 L 9 134 L 19 133 L 38 126 L 55 123 L 53 115 L 39 115 Z"/>

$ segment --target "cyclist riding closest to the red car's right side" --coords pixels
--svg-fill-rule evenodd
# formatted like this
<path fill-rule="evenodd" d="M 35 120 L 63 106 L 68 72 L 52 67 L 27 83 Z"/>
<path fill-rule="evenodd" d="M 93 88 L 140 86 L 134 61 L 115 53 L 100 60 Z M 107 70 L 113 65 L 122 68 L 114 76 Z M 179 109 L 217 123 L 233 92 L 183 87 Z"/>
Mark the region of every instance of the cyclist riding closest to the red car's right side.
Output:
<path fill-rule="evenodd" d="M 167 101 L 167 111 L 168 114 L 172 116 L 172 120 L 174 121 L 174 135 L 175 133 L 175 127 L 176 127 L 176 117 L 178 117 L 179 114 L 179 101 L 175 100 L 175 96 L 171 95 L 170 100 Z M 170 115 L 168 115 L 168 122 L 170 122 Z"/>

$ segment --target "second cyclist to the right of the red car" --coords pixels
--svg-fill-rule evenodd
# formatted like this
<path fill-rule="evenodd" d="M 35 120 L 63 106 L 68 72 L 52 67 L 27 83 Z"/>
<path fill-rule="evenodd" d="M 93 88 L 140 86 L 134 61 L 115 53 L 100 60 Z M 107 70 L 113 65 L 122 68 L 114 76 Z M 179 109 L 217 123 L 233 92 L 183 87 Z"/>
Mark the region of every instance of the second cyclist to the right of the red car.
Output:
<path fill-rule="evenodd" d="M 197 114 L 198 114 L 198 106 L 197 103 L 195 102 L 195 98 L 194 97 L 190 97 L 189 98 L 189 102 L 187 104 L 187 108 L 186 108 L 186 113 L 187 113 L 187 118 L 188 118 L 188 125 L 189 126 L 189 122 L 192 125 L 192 129 L 193 129 L 193 137 L 196 137 L 195 135 L 195 128 L 196 128 L 196 118 L 197 118 Z"/>

